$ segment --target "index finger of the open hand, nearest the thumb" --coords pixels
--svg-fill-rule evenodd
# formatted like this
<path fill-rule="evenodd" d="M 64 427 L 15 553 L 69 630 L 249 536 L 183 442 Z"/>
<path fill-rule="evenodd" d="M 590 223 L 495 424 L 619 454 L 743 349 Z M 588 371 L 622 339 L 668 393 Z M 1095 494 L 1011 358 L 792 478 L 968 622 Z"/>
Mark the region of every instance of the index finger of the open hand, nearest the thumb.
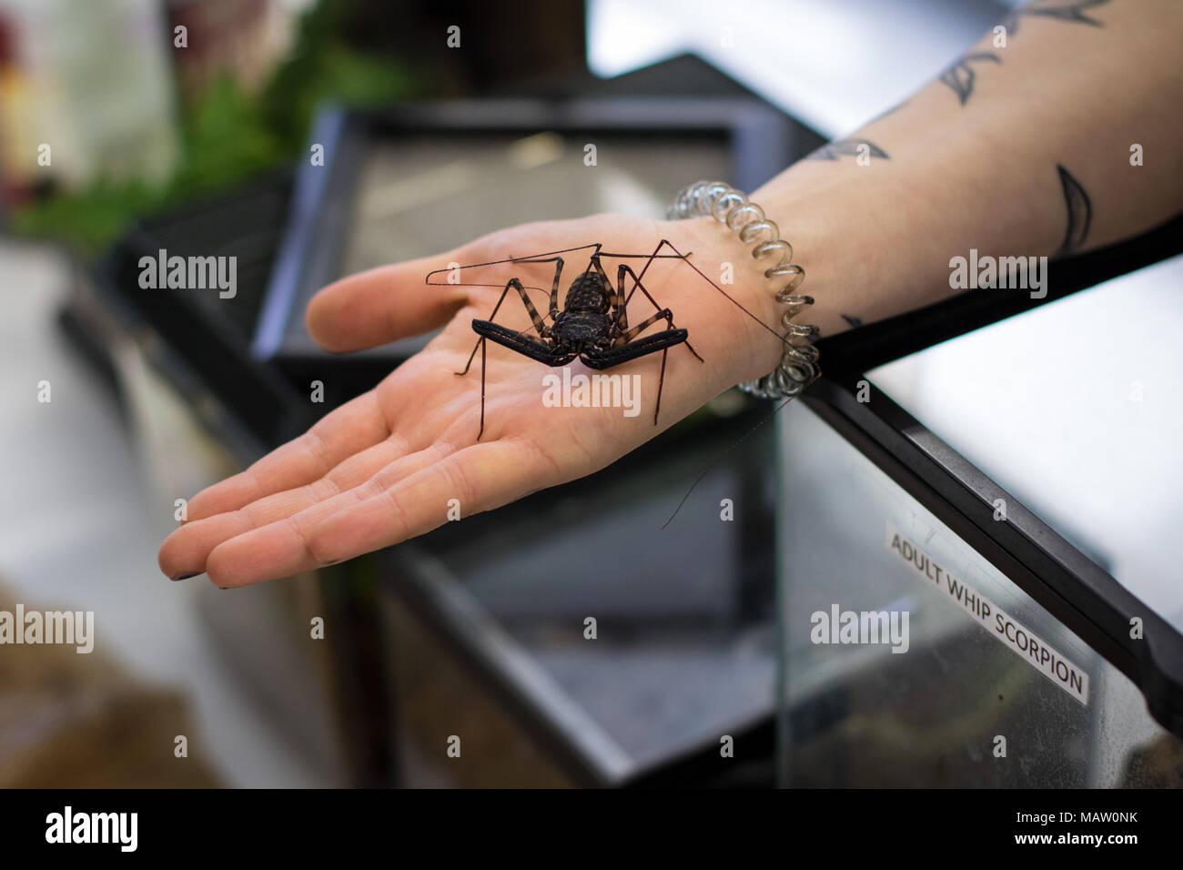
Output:
<path fill-rule="evenodd" d="M 201 490 L 189 500 L 187 522 L 238 510 L 274 492 L 318 481 L 348 457 L 388 438 L 389 423 L 377 394 L 363 393 L 245 471 Z"/>

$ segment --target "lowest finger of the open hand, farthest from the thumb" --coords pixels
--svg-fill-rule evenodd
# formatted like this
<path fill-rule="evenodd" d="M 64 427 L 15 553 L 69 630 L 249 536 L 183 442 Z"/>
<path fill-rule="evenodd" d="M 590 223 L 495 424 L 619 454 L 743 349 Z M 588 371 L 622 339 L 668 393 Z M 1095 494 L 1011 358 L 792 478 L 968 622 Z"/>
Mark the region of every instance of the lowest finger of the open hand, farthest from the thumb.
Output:
<path fill-rule="evenodd" d="M 561 479 L 554 460 L 530 442 L 474 444 L 411 475 L 383 470 L 331 503 L 232 537 L 209 554 L 206 573 L 219 586 L 245 586 L 311 571 L 441 526 L 450 500 L 463 517 Z"/>

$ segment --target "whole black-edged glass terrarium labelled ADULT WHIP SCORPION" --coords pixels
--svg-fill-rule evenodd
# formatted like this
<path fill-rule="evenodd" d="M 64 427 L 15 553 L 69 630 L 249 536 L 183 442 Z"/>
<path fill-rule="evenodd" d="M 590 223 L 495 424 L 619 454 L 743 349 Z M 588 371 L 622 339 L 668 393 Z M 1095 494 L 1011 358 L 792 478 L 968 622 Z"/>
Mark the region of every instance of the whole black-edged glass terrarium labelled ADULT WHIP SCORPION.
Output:
<path fill-rule="evenodd" d="M 778 415 L 782 784 L 1183 785 L 1181 278 L 1166 260 Z M 1103 350 L 1117 309 L 1139 339 Z"/>

